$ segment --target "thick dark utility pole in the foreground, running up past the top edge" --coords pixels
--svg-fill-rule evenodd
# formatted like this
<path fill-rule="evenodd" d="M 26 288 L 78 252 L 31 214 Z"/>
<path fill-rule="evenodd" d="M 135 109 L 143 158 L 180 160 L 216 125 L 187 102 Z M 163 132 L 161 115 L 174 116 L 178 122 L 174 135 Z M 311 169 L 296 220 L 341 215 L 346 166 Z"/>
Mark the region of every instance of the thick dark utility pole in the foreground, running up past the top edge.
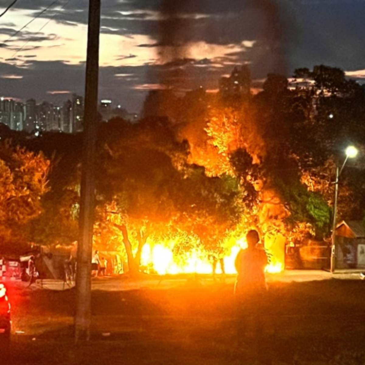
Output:
<path fill-rule="evenodd" d="M 91 258 L 95 208 L 95 154 L 99 84 L 100 1 L 89 0 L 84 142 L 77 246 L 75 340 L 87 341 L 91 325 Z"/>

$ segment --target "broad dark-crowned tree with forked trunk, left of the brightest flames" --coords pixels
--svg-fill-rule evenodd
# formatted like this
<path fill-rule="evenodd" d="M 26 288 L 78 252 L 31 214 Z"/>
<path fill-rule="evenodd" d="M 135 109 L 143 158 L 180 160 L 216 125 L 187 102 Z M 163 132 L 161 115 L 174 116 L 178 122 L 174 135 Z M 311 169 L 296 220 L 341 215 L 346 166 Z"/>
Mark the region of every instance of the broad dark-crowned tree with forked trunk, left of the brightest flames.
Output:
<path fill-rule="evenodd" d="M 138 271 L 149 239 L 155 244 L 185 231 L 203 245 L 218 246 L 238 216 L 237 183 L 207 177 L 204 168 L 189 165 L 187 144 L 159 122 L 119 124 L 101 158 L 96 228 L 100 236 L 110 236 L 109 242 L 123 241 L 132 272 Z"/>

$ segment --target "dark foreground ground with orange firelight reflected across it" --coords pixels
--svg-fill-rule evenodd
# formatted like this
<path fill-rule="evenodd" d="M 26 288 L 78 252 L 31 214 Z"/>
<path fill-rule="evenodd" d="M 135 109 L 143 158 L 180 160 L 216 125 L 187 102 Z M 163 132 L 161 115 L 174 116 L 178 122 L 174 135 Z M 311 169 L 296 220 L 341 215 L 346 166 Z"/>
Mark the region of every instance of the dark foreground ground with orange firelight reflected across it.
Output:
<path fill-rule="evenodd" d="M 365 282 L 323 275 L 325 280 L 292 282 L 293 274 L 270 280 L 260 343 L 265 363 L 365 364 Z M 302 278 L 310 280 L 307 276 Z M 73 289 L 10 285 L 14 334 L 2 353 L 6 363 L 223 365 L 257 360 L 250 328 L 246 346 L 237 346 L 233 278 L 225 283 L 194 276 L 96 279 L 93 287 L 92 338 L 75 347 Z"/>

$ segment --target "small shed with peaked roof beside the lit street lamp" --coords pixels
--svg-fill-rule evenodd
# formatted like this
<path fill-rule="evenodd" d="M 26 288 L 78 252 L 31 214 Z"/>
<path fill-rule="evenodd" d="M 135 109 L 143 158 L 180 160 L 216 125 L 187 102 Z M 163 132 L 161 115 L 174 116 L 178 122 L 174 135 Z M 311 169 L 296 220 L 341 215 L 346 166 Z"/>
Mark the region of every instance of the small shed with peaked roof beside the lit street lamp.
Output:
<path fill-rule="evenodd" d="M 365 268 L 365 224 L 342 221 L 336 227 L 336 269 Z"/>

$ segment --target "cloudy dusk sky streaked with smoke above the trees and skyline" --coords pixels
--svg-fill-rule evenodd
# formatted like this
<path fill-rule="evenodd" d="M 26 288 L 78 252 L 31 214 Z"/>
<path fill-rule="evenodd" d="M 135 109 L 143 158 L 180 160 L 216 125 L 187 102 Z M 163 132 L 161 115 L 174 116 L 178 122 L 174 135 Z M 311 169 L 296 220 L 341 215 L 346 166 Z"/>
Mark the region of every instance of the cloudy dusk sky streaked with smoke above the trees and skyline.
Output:
<path fill-rule="evenodd" d="M 88 0 L 59 0 L 9 39 L 53 1 L 18 0 L 0 18 L 1 95 L 62 104 L 70 92 L 83 94 Z M 0 0 L 0 10 L 9 3 Z M 101 3 L 99 98 L 129 111 L 161 85 L 214 91 L 243 63 L 256 84 L 268 72 L 291 76 L 316 64 L 365 78 L 364 0 Z"/>

